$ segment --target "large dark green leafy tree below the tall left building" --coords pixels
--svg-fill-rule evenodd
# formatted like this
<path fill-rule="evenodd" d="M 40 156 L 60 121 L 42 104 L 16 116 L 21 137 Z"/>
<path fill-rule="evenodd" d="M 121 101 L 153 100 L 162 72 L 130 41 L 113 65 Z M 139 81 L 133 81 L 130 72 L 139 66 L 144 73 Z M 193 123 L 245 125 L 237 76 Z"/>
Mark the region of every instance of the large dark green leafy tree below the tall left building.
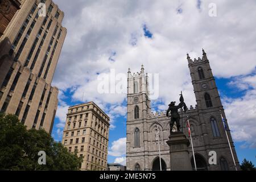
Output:
<path fill-rule="evenodd" d="M 43 129 L 27 130 L 16 115 L 0 114 L 0 143 L 2 170 L 79 170 L 82 163 Z M 46 152 L 46 165 L 38 164 L 39 151 Z"/>

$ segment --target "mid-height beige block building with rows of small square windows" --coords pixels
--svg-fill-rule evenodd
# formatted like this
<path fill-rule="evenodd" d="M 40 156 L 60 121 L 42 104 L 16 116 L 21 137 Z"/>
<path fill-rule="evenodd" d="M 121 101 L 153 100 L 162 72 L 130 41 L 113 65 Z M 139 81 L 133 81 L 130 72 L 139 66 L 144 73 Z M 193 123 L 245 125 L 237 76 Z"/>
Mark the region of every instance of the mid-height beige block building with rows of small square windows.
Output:
<path fill-rule="evenodd" d="M 94 102 L 68 108 L 62 143 L 83 157 L 82 170 L 106 171 L 109 117 Z"/>

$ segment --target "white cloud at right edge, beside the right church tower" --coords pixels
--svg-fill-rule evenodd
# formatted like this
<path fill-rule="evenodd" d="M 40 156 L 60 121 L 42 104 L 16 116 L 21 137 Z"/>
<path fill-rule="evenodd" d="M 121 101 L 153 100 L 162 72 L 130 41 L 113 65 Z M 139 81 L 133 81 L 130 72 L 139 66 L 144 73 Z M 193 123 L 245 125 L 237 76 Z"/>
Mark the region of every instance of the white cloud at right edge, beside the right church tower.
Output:
<path fill-rule="evenodd" d="M 245 141 L 242 148 L 249 146 L 256 148 L 256 86 L 255 80 L 251 79 L 255 76 L 247 76 L 237 79 L 237 83 L 241 88 L 241 84 L 248 84 L 251 90 L 247 90 L 245 96 L 236 99 L 226 98 L 224 100 L 225 113 L 232 130 L 232 136 L 236 141 Z"/>

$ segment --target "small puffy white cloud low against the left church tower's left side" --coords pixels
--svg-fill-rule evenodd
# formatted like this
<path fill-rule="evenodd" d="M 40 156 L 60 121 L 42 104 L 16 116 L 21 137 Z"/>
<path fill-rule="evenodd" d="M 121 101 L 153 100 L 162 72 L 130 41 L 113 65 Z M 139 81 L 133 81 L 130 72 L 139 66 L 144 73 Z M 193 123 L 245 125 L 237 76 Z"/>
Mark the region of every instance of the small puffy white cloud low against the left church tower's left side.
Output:
<path fill-rule="evenodd" d="M 126 154 L 126 138 L 119 138 L 112 142 L 112 146 L 109 150 L 111 156 L 122 156 Z"/>

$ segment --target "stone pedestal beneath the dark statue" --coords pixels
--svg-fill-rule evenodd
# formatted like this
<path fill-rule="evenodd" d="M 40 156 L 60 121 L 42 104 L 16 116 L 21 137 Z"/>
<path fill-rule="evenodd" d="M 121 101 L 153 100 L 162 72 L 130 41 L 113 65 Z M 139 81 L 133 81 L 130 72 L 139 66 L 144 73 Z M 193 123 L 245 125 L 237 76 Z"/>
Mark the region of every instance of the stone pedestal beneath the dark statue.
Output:
<path fill-rule="evenodd" d="M 190 144 L 183 132 L 171 133 L 166 142 L 170 146 L 171 171 L 192 171 L 188 146 Z"/>

